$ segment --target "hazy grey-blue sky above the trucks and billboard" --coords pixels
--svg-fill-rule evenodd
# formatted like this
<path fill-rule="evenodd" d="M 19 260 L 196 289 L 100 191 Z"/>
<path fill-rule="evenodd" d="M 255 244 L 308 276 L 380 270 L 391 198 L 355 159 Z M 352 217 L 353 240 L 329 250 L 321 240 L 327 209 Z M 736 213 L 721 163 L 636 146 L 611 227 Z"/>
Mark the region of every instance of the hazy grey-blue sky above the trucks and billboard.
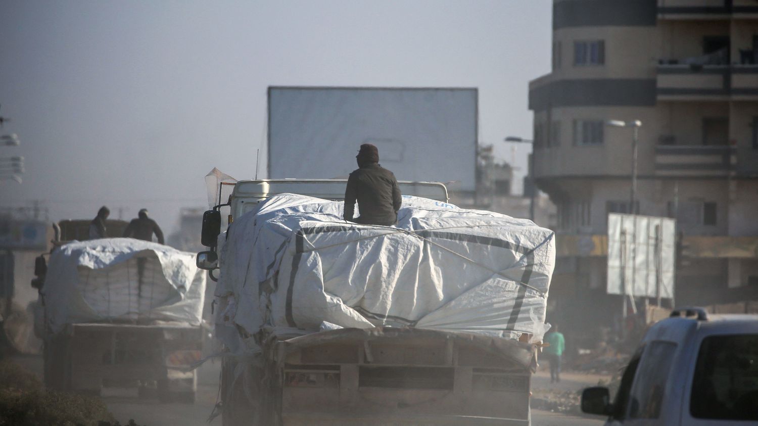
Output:
<path fill-rule="evenodd" d="M 480 143 L 511 161 L 500 141 L 531 136 L 528 81 L 550 70 L 551 9 L 2 0 L 0 115 L 12 121 L 0 133 L 21 146 L 0 155 L 23 155 L 26 173 L 0 180 L 0 206 L 42 200 L 51 220 L 146 207 L 171 232 L 181 207 L 207 204 L 211 168 L 252 179 L 260 148 L 265 171 L 268 86 L 478 87 Z M 516 147 L 518 167 L 526 152 Z"/>

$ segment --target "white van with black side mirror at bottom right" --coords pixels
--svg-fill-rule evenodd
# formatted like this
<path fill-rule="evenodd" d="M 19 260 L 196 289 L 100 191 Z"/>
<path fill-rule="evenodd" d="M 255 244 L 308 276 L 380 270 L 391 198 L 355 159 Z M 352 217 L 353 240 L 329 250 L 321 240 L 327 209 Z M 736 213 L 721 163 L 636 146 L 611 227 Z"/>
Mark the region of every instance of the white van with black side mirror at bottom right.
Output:
<path fill-rule="evenodd" d="M 647 331 L 609 401 L 590 387 L 581 409 L 609 426 L 758 424 L 758 315 L 675 310 Z"/>

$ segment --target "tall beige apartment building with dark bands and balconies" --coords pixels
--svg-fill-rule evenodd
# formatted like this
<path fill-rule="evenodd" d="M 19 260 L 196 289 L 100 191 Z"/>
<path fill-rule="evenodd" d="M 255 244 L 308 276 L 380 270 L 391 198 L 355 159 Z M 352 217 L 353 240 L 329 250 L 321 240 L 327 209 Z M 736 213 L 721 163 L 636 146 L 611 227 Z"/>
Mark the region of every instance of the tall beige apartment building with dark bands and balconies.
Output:
<path fill-rule="evenodd" d="M 677 218 L 676 305 L 758 300 L 758 2 L 554 0 L 552 55 L 529 108 L 537 186 L 558 206 L 554 321 L 621 312 L 610 212 Z M 609 120 L 642 122 L 634 206 L 632 129 Z"/>

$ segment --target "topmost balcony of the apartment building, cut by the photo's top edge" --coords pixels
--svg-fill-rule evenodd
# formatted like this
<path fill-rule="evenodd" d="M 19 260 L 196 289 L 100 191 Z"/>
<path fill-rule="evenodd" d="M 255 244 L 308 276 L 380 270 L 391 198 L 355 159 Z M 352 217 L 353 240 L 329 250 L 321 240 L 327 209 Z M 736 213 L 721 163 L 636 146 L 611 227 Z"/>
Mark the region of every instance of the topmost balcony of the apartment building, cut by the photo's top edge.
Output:
<path fill-rule="evenodd" d="M 658 0 L 658 19 L 716 20 L 758 17 L 753 0 Z"/>

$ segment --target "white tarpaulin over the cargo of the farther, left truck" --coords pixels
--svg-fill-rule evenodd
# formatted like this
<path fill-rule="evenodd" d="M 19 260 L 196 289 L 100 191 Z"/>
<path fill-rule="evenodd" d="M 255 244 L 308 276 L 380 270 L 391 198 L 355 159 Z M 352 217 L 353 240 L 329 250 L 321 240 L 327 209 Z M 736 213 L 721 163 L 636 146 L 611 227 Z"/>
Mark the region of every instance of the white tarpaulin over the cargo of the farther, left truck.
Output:
<path fill-rule="evenodd" d="M 200 324 L 205 271 L 193 253 L 158 243 L 74 241 L 52 252 L 42 295 L 54 333 L 92 321 Z"/>

